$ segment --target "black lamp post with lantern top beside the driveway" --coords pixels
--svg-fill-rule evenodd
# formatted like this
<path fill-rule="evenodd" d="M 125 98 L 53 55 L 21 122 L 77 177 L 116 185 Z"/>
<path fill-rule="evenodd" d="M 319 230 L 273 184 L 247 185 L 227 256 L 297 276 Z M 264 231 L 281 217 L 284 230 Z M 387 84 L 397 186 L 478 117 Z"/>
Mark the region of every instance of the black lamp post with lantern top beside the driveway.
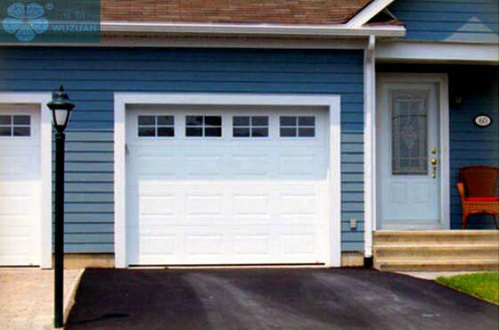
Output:
<path fill-rule="evenodd" d="M 55 133 L 55 258 L 54 258 L 54 296 L 53 296 L 53 326 L 64 324 L 64 129 L 70 122 L 71 111 L 75 104 L 61 86 L 53 92 L 52 100 L 47 103 L 52 110 Z"/>

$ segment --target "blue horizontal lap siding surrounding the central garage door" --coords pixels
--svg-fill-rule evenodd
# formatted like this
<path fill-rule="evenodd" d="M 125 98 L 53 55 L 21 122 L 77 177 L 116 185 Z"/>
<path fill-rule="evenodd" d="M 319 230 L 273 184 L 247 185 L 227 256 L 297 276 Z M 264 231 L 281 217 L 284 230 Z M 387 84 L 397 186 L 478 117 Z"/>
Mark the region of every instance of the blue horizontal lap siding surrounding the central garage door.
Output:
<path fill-rule="evenodd" d="M 0 60 L 0 90 L 62 84 L 77 104 L 67 137 L 67 252 L 113 251 L 115 92 L 341 95 L 342 249 L 364 249 L 362 51 L 26 47 L 1 48 Z"/>

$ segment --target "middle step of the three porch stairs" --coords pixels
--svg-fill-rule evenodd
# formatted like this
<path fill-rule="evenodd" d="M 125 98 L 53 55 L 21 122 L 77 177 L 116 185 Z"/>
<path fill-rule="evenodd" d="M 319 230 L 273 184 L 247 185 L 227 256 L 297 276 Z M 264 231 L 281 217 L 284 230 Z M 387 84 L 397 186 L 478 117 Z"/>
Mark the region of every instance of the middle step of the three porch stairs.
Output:
<path fill-rule="evenodd" d="M 413 259 L 432 260 L 499 260 L 499 244 L 376 244 L 373 248 L 376 259 Z"/>

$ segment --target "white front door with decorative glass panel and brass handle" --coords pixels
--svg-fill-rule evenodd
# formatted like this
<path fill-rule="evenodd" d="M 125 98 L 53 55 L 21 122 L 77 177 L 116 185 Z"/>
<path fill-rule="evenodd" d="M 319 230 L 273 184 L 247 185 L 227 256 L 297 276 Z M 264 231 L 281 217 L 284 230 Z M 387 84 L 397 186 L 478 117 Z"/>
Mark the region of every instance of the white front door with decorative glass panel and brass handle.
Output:
<path fill-rule="evenodd" d="M 381 229 L 441 225 L 438 84 L 380 86 L 378 186 Z"/>

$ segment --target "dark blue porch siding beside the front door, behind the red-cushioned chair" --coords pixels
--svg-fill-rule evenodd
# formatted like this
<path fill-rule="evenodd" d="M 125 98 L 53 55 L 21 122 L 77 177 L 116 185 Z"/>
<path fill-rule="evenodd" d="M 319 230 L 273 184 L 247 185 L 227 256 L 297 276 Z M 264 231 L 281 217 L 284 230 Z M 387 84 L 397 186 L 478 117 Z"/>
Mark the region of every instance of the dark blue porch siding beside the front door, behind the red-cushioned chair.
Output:
<path fill-rule="evenodd" d="M 379 71 L 446 72 L 449 75 L 450 164 L 451 164 L 451 227 L 461 228 L 462 212 L 455 184 L 459 169 L 470 165 L 499 167 L 499 68 L 466 65 L 379 65 Z M 452 102 L 462 95 L 462 106 Z M 494 122 L 488 128 L 477 128 L 473 118 L 487 113 Z M 492 228 L 490 216 L 473 215 L 470 228 Z"/>

